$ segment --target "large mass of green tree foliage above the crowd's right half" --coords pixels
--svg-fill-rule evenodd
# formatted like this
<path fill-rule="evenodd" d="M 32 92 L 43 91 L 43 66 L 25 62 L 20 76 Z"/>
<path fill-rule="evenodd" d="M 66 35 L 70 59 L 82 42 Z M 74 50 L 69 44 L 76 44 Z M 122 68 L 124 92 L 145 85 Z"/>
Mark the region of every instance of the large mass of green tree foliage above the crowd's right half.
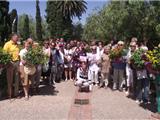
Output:
<path fill-rule="evenodd" d="M 111 1 L 94 11 L 84 27 L 83 38 L 91 40 L 148 40 L 153 47 L 159 43 L 160 2 Z"/>

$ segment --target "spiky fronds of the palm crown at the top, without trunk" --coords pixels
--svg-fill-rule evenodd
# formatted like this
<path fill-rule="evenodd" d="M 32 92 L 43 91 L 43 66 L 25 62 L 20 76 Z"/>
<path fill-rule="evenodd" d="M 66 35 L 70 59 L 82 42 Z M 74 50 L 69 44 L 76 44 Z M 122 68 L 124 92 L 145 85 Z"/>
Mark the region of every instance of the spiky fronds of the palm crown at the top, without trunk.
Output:
<path fill-rule="evenodd" d="M 64 0 L 58 1 L 57 9 L 59 9 L 64 18 L 72 19 L 73 17 L 78 17 L 81 19 L 83 13 L 86 12 L 86 2 L 84 0 Z"/>

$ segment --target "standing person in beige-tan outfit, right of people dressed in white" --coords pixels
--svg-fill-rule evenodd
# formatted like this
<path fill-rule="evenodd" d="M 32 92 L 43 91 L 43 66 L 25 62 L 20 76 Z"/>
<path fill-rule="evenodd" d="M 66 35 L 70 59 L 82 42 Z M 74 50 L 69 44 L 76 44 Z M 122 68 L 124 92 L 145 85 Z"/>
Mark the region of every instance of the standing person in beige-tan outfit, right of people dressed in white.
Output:
<path fill-rule="evenodd" d="M 102 79 L 100 80 L 100 87 L 102 87 L 103 85 L 105 85 L 105 87 L 108 86 L 108 75 L 109 75 L 109 69 L 110 69 L 109 51 L 110 51 L 110 47 L 109 46 L 105 47 L 104 52 L 101 56 Z"/>

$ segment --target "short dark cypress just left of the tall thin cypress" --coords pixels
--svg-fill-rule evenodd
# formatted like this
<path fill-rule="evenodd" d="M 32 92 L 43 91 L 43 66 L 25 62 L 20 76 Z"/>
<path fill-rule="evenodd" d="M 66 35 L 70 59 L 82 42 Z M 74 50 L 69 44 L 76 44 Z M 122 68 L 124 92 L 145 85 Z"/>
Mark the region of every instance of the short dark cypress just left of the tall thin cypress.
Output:
<path fill-rule="evenodd" d="M 29 17 L 28 17 L 28 15 L 25 15 L 24 25 L 23 25 L 23 40 L 26 40 L 29 37 L 30 37 Z"/>

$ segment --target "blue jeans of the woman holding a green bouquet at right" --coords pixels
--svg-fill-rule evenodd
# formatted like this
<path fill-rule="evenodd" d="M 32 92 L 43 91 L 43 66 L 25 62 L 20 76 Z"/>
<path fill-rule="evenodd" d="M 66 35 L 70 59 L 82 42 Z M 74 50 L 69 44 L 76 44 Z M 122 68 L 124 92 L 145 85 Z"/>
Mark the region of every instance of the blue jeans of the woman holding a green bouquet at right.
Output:
<path fill-rule="evenodd" d="M 143 100 L 144 102 L 149 101 L 149 79 L 138 79 L 136 87 L 136 98 L 137 100 Z"/>

